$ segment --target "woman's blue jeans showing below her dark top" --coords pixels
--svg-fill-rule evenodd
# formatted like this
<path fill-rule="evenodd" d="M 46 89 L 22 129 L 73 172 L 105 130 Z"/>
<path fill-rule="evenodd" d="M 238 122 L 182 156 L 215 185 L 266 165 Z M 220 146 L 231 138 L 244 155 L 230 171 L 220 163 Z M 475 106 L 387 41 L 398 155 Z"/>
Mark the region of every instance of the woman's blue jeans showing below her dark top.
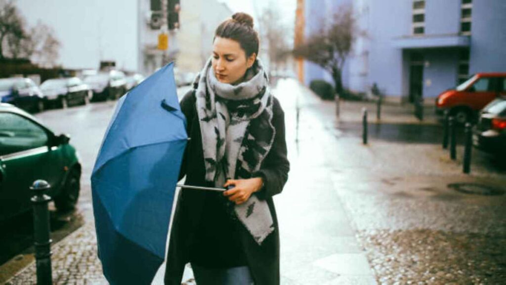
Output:
<path fill-rule="evenodd" d="M 254 285 L 247 266 L 207 268 L 192 264 L 197 285 Z"/>

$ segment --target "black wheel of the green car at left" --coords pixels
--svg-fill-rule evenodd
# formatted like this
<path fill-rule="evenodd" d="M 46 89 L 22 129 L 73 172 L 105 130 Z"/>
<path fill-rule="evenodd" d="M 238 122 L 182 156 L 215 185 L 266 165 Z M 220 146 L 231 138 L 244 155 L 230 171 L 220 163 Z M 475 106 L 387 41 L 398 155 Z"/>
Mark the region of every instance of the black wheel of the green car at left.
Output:
<path fill-rule="evenodd" d="M 79 198 L 81 172 L 72 168 L 58 196 L 55 197 L 55 206 L 58 210 L 67 211 L 75 208 Z"/>

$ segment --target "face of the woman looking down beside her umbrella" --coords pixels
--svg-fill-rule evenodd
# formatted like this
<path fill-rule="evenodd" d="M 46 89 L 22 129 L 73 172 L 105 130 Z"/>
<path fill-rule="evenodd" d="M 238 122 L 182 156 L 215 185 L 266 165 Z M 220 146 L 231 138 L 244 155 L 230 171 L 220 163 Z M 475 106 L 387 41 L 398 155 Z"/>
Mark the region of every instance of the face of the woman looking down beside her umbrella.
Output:
<path fill-rule="evenodd" d="M 246 70 L 255 62 L 256 54 L 246 58 L 241 45 L 231 39 L 216 37 L 213 44 L 213 71 L 218 81 L 238 84 Z"/>

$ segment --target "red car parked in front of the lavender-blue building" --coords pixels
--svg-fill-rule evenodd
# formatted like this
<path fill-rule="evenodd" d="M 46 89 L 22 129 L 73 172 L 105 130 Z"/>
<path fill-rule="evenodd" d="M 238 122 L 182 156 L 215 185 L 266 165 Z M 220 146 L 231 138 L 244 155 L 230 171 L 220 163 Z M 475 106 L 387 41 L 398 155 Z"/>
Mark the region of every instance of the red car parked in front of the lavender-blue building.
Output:
<path fill-rule="evenodd" d="M 506 73 L 478 73 L 453 90 L 441 93 L 436 99 L 436 112 L 445 110 L 463 124 L 476 118 L 478 111 L 499 95 L 506 94 Z"/>

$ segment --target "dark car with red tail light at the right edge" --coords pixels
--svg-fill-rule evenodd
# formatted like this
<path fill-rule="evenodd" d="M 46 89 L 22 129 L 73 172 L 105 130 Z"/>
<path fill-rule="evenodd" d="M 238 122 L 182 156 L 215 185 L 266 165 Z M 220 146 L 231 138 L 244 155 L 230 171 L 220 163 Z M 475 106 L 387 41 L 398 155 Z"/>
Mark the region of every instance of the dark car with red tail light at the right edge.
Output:
<path fill-rule="evenodd" d="M 474 128 L 473 145 L 491 154 L 506 154 L 506 97 L 483 108 Z"/>

